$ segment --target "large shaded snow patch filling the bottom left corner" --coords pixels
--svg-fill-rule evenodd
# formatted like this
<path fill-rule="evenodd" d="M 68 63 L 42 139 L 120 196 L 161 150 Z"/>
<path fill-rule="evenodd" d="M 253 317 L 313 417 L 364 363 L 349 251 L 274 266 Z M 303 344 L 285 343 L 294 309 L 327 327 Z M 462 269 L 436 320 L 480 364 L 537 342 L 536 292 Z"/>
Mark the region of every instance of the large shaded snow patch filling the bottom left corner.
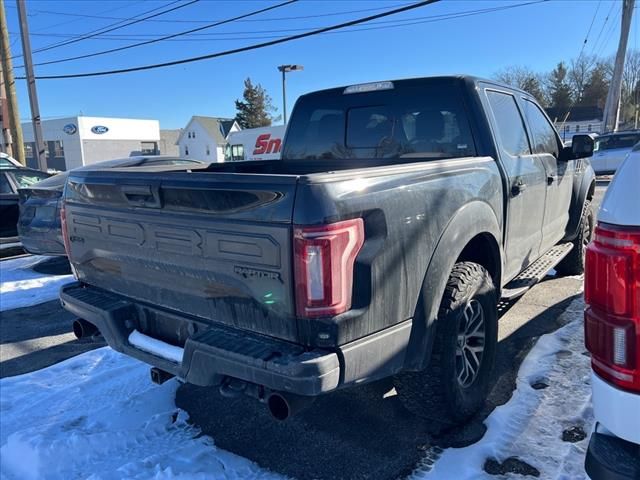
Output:
<path fill-rule="evenodd" d="M 108 347 L 0 380 L 0 478 L 281 478 L 198 437 L 177 387 Z"/>

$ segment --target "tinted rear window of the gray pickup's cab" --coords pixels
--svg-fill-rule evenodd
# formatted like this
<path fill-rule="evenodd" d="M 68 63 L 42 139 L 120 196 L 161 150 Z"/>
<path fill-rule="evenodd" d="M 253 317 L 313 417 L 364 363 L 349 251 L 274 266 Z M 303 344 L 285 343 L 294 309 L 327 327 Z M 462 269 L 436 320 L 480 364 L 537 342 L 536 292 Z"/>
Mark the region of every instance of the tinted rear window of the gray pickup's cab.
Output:
<path fill-rule="evenodd" d="M 283 160 L 437 159 L 476 154 L 459 88 L 396 82 L 391 90 L 302 97 Z"/>

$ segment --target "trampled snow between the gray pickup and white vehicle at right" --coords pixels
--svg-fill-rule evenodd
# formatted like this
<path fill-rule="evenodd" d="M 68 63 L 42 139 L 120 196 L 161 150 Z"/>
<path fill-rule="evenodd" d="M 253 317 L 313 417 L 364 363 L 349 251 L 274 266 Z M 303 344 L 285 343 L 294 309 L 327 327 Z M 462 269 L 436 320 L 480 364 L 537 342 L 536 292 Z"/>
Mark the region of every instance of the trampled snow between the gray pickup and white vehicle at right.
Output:
<path fill-rule="evenodd" d="M 504 462 L 509 457 L 535 467 L 544 479 L 586 478 L 583 463 L 594 419 L 589 357 L 582 354 L 583 307 L 582 300 L 574 301 L 563 314 L 569 323 L 538 340 L 520 367 L 517 390 L 485 421 L 482 440 L 466 448 L 427 452 L 414 480 L 496 478 L 484 472 L 485 461 Z M 536 382 L 549 386 L 535 390 L 531 385 Z M 563 431 L 573 426 L 580 426 L 587 437 L 564 442 Z"/>

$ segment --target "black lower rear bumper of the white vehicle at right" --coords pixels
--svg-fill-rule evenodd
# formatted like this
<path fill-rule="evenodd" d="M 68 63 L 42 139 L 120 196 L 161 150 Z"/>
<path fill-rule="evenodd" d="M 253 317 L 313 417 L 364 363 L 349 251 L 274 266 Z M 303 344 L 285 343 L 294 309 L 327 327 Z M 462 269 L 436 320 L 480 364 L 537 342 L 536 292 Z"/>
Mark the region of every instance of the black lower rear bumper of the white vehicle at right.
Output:
<path fill-rule="evenodd" d="M 584 466 L 592 480 L 638 480 L 640 445 L 598 433 L 596 426 L 589 441 Z"/>

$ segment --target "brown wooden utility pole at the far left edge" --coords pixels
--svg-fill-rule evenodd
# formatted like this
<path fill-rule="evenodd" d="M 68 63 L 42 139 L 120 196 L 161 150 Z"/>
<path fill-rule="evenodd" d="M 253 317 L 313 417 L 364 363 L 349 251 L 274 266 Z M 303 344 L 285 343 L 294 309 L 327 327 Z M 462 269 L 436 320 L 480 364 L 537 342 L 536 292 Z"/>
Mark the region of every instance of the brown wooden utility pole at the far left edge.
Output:
<path fill-rule="evenodd" d="M 24 140 L 22 138 L 22 125 L 18 111 L 18 97 L 16 96 L 16 81 L 13 78 L 13 65 L 11 62 L 11 48 L 9 46 L 9 31 L 7 30 L 7 16 L 4 10 L 4 0 L 0 0 L 0 57 L 2 57 L 2 82 L 7 92 L 7 116 L 9 123 L 9 138 L 6 143 L 12 144 L 11 155 L 21 164 L 26 165 L 24 157 Z M 5 121 L 3 117 L 3 122 Z M 4 132 L 3 132 L 4 134 Z"/>

